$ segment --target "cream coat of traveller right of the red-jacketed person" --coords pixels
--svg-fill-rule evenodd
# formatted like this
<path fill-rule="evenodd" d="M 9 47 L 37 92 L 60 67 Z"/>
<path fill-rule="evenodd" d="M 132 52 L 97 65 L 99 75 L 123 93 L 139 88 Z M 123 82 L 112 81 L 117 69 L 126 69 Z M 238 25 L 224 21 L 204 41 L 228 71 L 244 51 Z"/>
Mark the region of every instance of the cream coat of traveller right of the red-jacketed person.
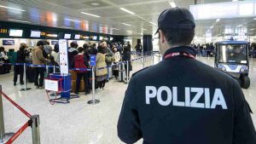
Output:
<path fill-rule="evenodd" d="M 105 55 L 102 53 L 98 53 L 96 55 L 96 68 L 102 68 L 102 67 L 106 67 L 107 64 L 105 62 Z M 108 71 L 107 68 L 103 68 L 101 70 L 96 70 L 96 76 L 104 76 L 107 75 Z"/>

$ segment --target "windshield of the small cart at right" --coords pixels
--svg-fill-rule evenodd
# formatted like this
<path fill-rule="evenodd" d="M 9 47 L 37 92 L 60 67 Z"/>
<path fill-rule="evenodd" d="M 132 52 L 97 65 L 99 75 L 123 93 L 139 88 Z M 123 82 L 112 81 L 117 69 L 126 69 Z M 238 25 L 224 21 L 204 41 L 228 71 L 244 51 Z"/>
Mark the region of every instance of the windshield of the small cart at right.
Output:
<path fill-rule="evenodd" d="M 220 44 L 218 46 L 218 61 L 247 64 L 247 44 Z"/>

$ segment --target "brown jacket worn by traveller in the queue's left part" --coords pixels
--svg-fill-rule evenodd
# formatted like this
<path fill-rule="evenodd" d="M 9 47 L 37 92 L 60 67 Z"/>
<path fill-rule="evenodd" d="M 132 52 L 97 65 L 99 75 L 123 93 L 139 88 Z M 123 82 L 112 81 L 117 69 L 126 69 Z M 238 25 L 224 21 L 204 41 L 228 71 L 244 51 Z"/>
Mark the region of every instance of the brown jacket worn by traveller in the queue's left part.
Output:
<path fill-rule="evenodd" d="M 33 65 L 44 65 L 46 60 L 43 56 L 43 50 L 35 47 L 32 49 L 32 63 Z"/>

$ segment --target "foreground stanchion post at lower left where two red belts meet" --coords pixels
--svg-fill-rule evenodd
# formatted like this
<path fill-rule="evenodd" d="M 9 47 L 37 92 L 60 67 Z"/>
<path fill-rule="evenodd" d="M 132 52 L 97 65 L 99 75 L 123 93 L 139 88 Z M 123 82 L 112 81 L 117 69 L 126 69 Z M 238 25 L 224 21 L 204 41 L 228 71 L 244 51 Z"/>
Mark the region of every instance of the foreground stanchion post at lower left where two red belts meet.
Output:
<path fill-rule="evenodd" d="M 31 120 L 32 120 L 32 144 L 40 144 L 39 115 L 33 115 Z"/>

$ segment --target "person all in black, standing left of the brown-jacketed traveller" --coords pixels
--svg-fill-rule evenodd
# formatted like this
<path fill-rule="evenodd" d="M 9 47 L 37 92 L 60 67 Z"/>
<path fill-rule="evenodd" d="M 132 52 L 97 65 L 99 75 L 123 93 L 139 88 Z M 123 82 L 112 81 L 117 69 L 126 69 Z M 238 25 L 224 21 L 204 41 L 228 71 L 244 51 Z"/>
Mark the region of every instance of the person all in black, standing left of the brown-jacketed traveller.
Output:
<path fill-rule="evenodd" d="M 26 55 L 28 52 L 26 51 L 26 44 L 22 43 L 20 44 L 20 49 L 17 51 L 17 60 L 15 63 L 24 64 L 26 63 Z M 24 74 L 24 66 L 23 65 L 15 65 L 14 68 L 15 74 L 14 74 L 14 85 L 17 83 L 18 75 L 20 75 L 20 85 L 24 84 L 23 81 L 23 74 Z"/>

